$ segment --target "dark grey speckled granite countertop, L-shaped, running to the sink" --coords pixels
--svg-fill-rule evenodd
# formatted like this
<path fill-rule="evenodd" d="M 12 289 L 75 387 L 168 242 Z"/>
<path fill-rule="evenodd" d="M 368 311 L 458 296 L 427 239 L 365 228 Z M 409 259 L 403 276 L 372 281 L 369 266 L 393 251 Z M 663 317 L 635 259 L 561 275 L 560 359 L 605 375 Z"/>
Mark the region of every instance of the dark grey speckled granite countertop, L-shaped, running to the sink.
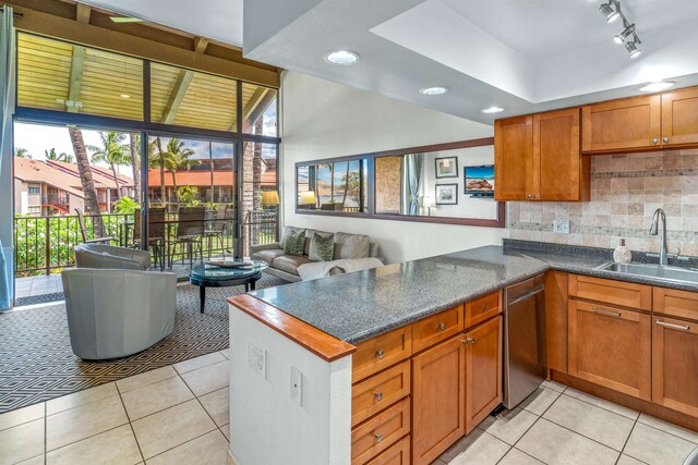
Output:
<path fill-rule="evenodd" d="M 505 241 L 250 294 L 351 344 L 550 269 L 698 292 L 698 284 L 598 270 L 612 250 Z"/>

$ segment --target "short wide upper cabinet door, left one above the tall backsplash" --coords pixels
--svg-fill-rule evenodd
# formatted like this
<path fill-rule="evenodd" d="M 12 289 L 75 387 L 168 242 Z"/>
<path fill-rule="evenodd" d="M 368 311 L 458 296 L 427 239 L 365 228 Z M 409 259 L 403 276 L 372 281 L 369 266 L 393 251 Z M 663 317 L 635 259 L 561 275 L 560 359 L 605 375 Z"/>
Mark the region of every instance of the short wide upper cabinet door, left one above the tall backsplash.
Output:
<path fill-rule="evenodd" d="M 661 146 L 661 96 L 641 96 L 581 108 L 583 152 L 613 152 Z"/>

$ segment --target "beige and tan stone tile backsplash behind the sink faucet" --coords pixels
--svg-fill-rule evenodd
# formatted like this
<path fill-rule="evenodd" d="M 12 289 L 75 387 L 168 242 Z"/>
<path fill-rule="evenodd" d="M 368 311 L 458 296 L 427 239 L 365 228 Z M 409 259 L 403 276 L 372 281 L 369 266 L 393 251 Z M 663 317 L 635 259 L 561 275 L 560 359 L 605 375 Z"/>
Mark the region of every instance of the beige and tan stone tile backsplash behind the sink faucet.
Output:
<path fill-rule="evenodd" d="M 591 160 L 591 201 L 507 203 L 512 238 L 659 252 L 649 235 L 652 213 L 666 212 L 669 252 L 698 256 L 698 149 L 597 155 Z M 553 233 L 569 220 L 569 234 Z"/>

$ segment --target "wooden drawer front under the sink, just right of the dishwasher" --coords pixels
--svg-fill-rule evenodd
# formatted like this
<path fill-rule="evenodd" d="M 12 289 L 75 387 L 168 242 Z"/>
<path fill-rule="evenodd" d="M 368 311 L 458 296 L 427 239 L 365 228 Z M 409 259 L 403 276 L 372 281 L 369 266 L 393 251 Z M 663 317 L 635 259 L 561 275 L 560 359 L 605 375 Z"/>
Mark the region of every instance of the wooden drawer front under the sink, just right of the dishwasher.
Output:
<path fill-rule="evenodd" d="M 640 310 L 652 308 L 652 287 L 631 282 L 570 274 L 569 296 Z"/>

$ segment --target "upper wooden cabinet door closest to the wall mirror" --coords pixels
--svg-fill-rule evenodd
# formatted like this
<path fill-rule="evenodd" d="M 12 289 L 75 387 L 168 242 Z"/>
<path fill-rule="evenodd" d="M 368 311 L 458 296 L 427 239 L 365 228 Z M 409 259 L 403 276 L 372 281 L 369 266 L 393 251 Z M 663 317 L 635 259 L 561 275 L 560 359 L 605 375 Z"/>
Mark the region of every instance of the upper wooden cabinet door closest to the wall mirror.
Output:
<path fill-rule="evenodd" d="M 533 191 L 533 117 L 494 122 L 494 198 L 526 200 Z"/>

